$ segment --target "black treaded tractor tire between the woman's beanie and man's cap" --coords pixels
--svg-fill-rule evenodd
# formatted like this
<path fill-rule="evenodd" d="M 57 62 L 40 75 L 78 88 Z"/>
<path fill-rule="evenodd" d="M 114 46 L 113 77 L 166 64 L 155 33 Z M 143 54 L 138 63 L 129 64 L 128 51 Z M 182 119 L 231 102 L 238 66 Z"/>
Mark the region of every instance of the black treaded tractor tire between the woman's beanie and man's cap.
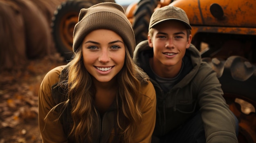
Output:
<path fill-rule="evenodd" d="M 149 20 L 157 7 L 158 0 L 140 0 L 137 4 L 137 9 L 134 13 L 134 22 L 132 27 L 134 29 L 136 45 L 148 39 L 148 25 Z"/>

